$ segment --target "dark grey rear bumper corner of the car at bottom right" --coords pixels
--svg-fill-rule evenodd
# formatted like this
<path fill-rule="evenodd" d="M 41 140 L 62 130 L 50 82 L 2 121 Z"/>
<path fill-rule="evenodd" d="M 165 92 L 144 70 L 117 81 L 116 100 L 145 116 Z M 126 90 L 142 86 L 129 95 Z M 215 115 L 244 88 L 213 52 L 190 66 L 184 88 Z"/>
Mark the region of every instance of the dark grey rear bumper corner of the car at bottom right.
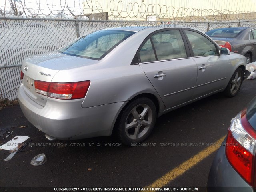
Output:
<path fill-rule="evenodd" d="M 234 170 L 226 158 L 226 139 L 220 146 L 210 169 L 208 192 L 253 192 L 253 188 Z"/>

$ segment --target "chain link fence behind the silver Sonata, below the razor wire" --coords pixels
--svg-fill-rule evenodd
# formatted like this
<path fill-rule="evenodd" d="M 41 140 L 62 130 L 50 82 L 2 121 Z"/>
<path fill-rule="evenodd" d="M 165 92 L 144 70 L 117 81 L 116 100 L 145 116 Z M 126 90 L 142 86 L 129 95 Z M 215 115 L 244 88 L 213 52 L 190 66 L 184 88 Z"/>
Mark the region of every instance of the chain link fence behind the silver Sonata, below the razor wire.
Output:
<path fill-rule="evenodd" d="M 52 52 L 79 36 L 93 31 L 120 26 L 169 26 L 212 28 L 256 26 L 256 21 L 236 22 L 130 22 L 91 21 L 83 19 L 6 18 L 0 17 L 0 98 L 15 100 L 20 86 L 20 66 L 24 57 Z"/>

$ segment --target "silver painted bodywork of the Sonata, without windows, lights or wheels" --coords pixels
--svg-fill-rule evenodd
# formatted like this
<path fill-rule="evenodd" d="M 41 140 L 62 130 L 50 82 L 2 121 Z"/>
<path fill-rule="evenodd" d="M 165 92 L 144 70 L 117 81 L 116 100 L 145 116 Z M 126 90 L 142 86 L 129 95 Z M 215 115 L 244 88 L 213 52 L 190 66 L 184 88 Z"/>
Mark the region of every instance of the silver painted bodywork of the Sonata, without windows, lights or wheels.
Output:
<path fill-rule="evenodd" d="M 158 102 L 158 116 L 161 116 L 224 90 L 236 68 L 245 69 L 246 59 L 239 54 L 132 64 L 143 40 L 163 27 L 116 29 L 138 32 L 101 60 L 58 52 L 24 60 L 21 68 L 24 79 L 18 99 L 26 118 L 34 126 L 62 140 L 109 136 L 124 106 L 138 95 L 153 96 Z M 217 61 L 215 65 L 214 61 Z M 208 65 L 204 71 L 198 69 L 203 63 Z M 161 71 L 166 76 L 153 78 Z M 218 75 L 215 77 L 214 73 Z M 84 99 L 58 100 L 36 93 L 31 84 L 26 83 L 27 77 L 32 83 L 34 80 L 59 83 L 90 80 L 90 87 Z"/>

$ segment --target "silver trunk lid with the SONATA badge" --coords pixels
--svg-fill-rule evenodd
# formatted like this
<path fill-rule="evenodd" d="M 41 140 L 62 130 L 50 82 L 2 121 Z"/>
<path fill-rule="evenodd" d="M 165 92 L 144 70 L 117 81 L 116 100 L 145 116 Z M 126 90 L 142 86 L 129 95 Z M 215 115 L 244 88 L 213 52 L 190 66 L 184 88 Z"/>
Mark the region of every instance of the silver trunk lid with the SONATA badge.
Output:
<path fill-rule="evenodd" d="M 27 57 L 24 59 L 21 68 L 24 73 L 22 80 L 24 91 L 34 102 L 41 106 L 45 106 L 48 97 L 36 92 L 35 80 L 52 82 L 54 75 L 60 70 L 90 65 L 95 62 L 97 61 L 58 52 Z"/>

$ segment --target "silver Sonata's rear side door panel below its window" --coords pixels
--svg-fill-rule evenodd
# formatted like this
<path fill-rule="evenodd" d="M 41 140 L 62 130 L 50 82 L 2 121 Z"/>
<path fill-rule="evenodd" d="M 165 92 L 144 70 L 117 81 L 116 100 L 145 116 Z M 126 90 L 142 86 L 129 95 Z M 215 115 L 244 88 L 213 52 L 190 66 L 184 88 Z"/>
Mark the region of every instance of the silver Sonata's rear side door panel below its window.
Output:
<path fill-rule="evenodd" d="M 196 86 L 197 68 L 192 58 L 140 64 L 148 80 L 162 98 L 166 108 L 191 99 Z M 166 76 L 154 78 L 164 73 Z M 182 74 L 182 75 L 181 75 Z"/>

